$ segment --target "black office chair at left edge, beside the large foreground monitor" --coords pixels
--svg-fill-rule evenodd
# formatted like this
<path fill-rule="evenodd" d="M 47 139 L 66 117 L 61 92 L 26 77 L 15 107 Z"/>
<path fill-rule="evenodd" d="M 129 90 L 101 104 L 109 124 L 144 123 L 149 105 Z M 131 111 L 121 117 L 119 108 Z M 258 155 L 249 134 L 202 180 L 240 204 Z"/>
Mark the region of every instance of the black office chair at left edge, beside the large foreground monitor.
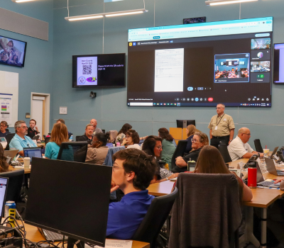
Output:
<path fill-rule="evenodd" d="M 20 200 L 21 188 L 23 185 L 23 169 L 17 169 L 15 171 L 7 171 L 0 173 L 0 177 L 8 177 L 8 188 L 6 193 L 6 201 L 14 201 L 18 203 Z M 4 216 L 4 213 L 2 213 Z"/>

